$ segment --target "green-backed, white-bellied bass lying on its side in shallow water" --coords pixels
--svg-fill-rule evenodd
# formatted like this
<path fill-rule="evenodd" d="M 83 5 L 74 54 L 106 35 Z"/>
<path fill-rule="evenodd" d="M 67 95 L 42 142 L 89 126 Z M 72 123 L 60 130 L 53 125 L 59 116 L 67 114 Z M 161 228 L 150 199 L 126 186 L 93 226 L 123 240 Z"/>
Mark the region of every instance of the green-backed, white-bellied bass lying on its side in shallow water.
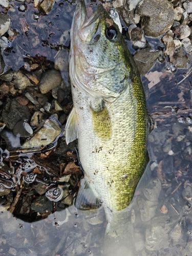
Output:
<path fill-rule="evenodd" d="M 84 0 L 78 0 L 70 36 L 73 109 L 66 123 L 66 143 L 78 139 L 84 184 L 102 203 L 106 234 L 117 237 L 121 214 L 148 162 L 144 89 L 118 25 L 101 4 L 88 18 Z M 79 207 L 83 190 L 82 186 L 77 196 Z"/>

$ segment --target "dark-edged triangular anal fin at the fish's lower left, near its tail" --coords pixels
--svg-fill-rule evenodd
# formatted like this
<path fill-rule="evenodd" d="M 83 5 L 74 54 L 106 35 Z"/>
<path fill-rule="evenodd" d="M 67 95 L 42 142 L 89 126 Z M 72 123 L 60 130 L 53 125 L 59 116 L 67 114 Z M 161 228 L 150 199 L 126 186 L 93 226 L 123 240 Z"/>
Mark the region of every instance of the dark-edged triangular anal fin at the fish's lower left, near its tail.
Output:
<path fill-rule="evenodd" d="M 97 198 L 86 178 L 81 180 L 75 206 L 78 210 L 83 211 L 93 210 L 101 206 L 101 201 Z"/>

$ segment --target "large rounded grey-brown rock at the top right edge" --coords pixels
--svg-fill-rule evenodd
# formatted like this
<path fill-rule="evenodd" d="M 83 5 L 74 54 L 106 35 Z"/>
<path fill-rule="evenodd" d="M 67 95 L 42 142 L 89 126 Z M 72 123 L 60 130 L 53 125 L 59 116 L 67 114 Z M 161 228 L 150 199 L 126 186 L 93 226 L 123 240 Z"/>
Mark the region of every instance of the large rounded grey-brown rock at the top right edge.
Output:
<path fill-rule="evenodd" d="M 146 36 L 162 35 L 174 22 L 174 8 L 167 0 L 143 0 L 136 13 L 141 16 L 141 28 Z"/>

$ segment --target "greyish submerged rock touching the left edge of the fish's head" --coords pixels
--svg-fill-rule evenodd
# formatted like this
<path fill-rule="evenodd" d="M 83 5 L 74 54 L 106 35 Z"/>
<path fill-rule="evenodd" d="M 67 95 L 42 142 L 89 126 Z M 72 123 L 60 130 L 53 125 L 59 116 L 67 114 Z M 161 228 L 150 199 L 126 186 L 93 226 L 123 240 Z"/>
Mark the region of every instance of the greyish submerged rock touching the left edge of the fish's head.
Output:
<path fill-rule="evenodd" d="M 59 71 L 68 72 L 69 52 L 62 49 L 55 59 L 54 68 Z"/>

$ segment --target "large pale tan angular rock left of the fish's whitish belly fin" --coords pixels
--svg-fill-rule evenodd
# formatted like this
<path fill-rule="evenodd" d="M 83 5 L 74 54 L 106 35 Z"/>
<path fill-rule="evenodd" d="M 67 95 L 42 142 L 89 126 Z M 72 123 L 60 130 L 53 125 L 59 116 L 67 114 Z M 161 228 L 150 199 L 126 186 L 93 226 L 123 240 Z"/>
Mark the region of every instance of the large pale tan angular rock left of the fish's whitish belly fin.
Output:
<path fill-rule="evenodd" d="M 23 148 L 44 147 L 55 140 L 60 134 L 61 129 L 58 123 L 54 120 L 46 120 L 44 125 L 38 130 L 33 137 L 23 144 Z"/>

